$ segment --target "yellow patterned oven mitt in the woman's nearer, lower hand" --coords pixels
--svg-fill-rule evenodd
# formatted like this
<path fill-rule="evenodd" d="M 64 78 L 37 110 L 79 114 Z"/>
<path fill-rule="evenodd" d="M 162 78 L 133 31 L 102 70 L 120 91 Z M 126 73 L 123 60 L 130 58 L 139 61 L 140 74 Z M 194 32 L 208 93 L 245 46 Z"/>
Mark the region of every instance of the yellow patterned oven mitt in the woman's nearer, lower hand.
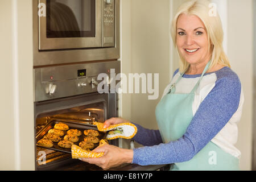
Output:
<path fill-rule="evenodd" d="M 104 146 L 106 143 L 105 140 L 100 140 L 100 145 Z M 77 146 L 76 144 L 73 144 L 71 147 L 71 152 L 72 152 L 72 159 L 79 159 L 79 158 L 101 158 L 104 155 L 104 152 L 89 152 L 81 147 Z"/>

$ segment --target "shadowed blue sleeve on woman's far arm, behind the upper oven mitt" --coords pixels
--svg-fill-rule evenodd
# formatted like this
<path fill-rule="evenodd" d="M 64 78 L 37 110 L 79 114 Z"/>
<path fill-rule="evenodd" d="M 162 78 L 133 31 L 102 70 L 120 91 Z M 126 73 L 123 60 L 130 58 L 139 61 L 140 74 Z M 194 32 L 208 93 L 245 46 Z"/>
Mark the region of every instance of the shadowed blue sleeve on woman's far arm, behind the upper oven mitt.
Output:
<path fill-rule="evenodd" d="M 154 146 L 163 143 L 159 130 L 145 129 L 141 125 L 133 123 L 137 127 L 137 134 L 133 139 L 143 146 Z"/>

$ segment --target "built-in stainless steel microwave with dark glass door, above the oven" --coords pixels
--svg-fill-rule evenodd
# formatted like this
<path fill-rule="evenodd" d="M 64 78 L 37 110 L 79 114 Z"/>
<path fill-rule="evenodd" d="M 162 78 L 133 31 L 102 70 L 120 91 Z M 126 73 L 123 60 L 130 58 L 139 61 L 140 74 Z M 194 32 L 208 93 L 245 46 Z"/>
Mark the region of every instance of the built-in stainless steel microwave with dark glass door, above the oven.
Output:
<path fill-rule="evenodd" d="M 33 1 L 34 67 L 118 59 L 119 1 Z"/>

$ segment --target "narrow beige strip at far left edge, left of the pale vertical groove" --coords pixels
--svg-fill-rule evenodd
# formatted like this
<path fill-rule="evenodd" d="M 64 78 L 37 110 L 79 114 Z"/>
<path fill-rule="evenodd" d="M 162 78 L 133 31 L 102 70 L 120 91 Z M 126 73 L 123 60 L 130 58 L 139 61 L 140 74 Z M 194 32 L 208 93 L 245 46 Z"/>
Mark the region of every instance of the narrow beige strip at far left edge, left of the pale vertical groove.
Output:
<path fill-rule="evenodd" d="M 15 147 L 14 147 L 14 111 L 13 111 L 13 76 L 10 73 L 13 73 L 13 64 L 12 64 L 12 40 L 11 40 L 11 1 L 2 1 L 0 10 L 0 19 L 1 22 L 5 22 L 5 28 L 1 26 L 1 78 L 2 86 L 0 89 L 0 97 L 1 97 L 1 128 L 5 129 L 0 133 L 0 137 L 3 146 L 9 146 L 9 150 L 1 150 L 0 155 L 0 169 L 14 169 L 15 166 Z M 4 66 L 4 69 L 3 69 Z M 5 139 L 6 136 L 9 139 Z M 3 149 L 3 147 L 1 147 Z"/>

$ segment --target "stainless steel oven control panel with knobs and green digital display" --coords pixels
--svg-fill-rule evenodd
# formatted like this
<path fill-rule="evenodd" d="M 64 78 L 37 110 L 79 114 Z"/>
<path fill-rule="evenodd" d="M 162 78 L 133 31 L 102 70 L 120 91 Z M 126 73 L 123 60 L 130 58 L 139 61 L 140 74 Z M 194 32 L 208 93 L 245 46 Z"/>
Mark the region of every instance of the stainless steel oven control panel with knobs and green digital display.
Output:
<path fill-rule="evenodd" d="M 110 69 L 114 69 L 115 74 L 120 73 L 120 61 L 35 68 L 34 101 L 100 93 L 102 87 L 113 81 L 110 79 Z"/>

